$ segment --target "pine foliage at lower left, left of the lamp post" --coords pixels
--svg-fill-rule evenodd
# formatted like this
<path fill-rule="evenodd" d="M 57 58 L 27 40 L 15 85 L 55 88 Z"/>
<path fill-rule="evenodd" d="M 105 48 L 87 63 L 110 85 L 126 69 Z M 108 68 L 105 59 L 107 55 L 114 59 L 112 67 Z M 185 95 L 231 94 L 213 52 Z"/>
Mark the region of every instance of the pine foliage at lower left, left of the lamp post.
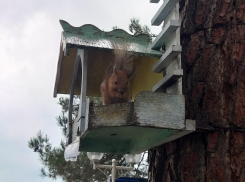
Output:
<path fill-rule="evenodd" d="M 106 180 L 104 174 L 97 173 L 92 169 L 86 153 L 80 153 L 76 162 L 66 162 L 64 159 L 65 144 L 61 142 L 60 147 L 52 147 L 47 136 L 43 136 L 40 131 L 28 143 L 29 147 L 39 154 L 43 164 L 41 169 L 41 176 L 43 177 L 52 179 L 61 177 L 66 182 Z"/>

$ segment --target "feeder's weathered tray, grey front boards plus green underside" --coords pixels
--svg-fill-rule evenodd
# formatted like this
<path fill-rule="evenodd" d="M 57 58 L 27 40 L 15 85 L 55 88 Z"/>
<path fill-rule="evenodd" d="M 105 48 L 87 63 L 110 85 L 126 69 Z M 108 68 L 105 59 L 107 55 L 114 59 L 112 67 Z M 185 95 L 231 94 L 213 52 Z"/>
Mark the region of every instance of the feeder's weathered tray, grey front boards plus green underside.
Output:
<path fill-rule="evenodd" d="M 134 102 L 87 106 L 80 151 L 139 153 L 193 132 L 183 95 L 140 92 Z"/>

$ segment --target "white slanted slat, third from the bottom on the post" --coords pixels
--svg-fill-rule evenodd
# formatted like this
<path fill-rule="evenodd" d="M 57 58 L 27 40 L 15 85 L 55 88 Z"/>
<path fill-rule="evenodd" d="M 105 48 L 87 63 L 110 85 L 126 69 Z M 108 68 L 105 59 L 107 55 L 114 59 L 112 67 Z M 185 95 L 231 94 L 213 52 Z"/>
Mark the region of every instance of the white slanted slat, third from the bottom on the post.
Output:
<path fill-rule="evenodd" d="M 155 50 L 159 50 L 165 41 L 169 39 L 169 37 L 179 28 L 178 20 L 169 20 L 168 23 L 163 27 L 162 31 L 155 38 L 153 43 L 151 44 L 151 48 Z"/>

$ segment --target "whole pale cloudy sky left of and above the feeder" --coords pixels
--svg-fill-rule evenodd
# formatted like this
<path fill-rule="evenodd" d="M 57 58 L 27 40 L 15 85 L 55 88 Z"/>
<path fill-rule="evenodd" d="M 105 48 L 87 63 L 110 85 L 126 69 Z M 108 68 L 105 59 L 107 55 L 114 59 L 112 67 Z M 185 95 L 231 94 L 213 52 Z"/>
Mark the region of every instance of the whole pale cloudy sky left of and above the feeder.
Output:
<path fill-rule="evenodd" d="M 130 18 L 150 26 L 161 3 L 149 0 L 0 0 L 0 181 L 51 182 L 40 177 L 28 140 L 39 130 L 54 146 L 64 137 L 53 98 L 62 28 L 93 24 L 128 31 Z M 160 27 L 151 27 L 158 34 Z M 63 95 L 64 96 L 64 95 Z M 61 179 L 56 180 L 62 182 Z"/>

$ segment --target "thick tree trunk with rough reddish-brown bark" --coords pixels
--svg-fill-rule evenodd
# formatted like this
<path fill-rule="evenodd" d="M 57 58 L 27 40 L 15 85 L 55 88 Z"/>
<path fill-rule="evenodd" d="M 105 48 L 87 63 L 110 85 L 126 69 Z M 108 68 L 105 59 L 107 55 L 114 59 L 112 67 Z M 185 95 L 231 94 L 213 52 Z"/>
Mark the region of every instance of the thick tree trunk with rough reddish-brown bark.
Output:
<path fill-rule="evenodd" d="M 180 0 L 186 118 L 196 132 L 149 151 L 149 182 L 245 181 L 245 0 Z M 228 129 L 222 129 L 228 127 Z"/>

